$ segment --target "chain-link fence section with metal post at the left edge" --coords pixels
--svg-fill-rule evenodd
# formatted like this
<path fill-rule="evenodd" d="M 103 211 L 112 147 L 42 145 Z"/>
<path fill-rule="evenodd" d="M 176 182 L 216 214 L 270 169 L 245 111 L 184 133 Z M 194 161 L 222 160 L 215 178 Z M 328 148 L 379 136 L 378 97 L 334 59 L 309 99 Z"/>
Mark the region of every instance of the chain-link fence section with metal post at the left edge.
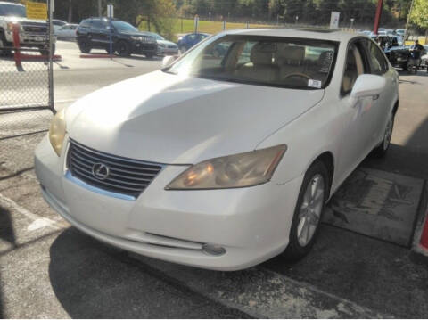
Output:
<path fill-rule="evenodd" d="M 53 117 L 48 26 L 21 22 L 21 45 L 37 37 L 37 46 L 16 40 L 0 46 L 0 179 L 33 168 L 34 150 Z"/>

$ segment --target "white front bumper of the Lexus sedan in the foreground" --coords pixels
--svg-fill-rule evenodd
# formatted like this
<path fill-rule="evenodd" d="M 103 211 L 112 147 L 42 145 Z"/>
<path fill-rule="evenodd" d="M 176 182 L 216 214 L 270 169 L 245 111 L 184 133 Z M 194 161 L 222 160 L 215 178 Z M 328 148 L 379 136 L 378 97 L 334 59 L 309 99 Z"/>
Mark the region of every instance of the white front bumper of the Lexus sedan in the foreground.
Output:
<path fill-rule="evenodd" d="M 64 148 L 65 150 L 66 148 Z M 86 234 L 152 258 L 217 270 L 251 267 L 288 243 L 302 176 L 285 185 L 166 191 L 186 166 L 166 166 L 136 201 L 97 192 L 64 168 L 47 139 L 38 145 L 37 178 L 53 209 Z M 210 255 L 202 245 L 226 249 Z"/>

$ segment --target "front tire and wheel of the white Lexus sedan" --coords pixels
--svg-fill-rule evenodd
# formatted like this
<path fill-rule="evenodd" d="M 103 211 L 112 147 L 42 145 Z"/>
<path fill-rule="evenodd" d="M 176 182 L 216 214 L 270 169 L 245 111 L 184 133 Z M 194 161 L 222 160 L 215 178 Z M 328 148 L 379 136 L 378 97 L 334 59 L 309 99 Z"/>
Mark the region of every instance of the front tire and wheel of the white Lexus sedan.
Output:
<path fill-rule="evenodd" d="M 325 211 L 330 179 L 325 164 L 317 160 L 306 172 L 300 187 L 299 198 L 292 226 L 289 243 L 283 252 L 288 261 L 297 261 L 305 257 L 317 238 L 320 221 Z M 315 188 L 315 193 L 312 193 Z M 305 232 L 306 230 L 306 232 Z"/>

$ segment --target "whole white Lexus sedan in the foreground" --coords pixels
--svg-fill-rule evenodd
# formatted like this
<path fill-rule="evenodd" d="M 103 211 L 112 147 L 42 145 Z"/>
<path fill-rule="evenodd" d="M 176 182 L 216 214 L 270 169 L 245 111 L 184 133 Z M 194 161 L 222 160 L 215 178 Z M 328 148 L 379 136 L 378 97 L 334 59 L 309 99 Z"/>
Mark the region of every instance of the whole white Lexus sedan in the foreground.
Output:
<path fill-rule="evenodd" d="M 362 35 L 227 31 L 59 111 L 37 177 L 73 226 L 145 256 L 217 270 L 302 258 L 325 202 L 387 151 L 398 86 Z"/>

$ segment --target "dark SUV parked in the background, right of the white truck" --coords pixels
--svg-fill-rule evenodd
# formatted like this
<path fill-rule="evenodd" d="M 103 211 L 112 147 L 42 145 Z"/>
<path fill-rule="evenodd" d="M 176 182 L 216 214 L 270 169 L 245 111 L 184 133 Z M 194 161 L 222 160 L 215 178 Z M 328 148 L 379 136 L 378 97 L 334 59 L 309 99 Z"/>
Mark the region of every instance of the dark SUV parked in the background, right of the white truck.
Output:
<path fill-rule="evenodd" d="M 128 22 L 107 18 L 89 18 L 81 21 L 77 30 L 78 47 L 82 53 L 91 49 L 105 49 L 110 52 L 110 32 L 113 53 L 121 56 L 142 53 L 152 58 L 158 50 L 156 38 L 138 31 Z"/>

